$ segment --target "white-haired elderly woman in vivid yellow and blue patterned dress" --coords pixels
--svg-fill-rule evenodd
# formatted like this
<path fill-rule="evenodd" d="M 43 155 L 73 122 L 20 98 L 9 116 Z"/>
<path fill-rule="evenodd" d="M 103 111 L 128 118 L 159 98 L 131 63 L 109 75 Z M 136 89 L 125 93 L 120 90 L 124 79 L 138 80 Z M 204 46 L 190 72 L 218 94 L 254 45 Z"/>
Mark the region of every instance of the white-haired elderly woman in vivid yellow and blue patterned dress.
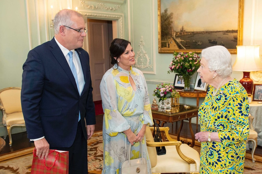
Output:
<path fill-rule="evenodd" d="M 198 110 L 201 142 L 200 173 L 243 173 L 249 136 L 248 97 L 232 73 L 231 54 L 223 46 L 202 50 L 198 68 L 202 82 L 210 85 Z"/>

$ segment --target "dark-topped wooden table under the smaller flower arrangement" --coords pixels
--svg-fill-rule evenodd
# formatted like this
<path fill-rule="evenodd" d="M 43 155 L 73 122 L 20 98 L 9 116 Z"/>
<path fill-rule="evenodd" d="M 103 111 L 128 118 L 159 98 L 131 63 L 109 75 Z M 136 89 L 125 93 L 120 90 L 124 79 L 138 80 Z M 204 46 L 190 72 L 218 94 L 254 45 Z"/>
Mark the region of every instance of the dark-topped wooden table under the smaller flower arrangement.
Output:
<path fill-rule="evenodd" d="M 193 147 L 195 145 L 195 134 L 192 130 L 191 118 L 198 116 L 198 107 L 192 105 L 187 106 L 189 108 L 185 108 L 184 104 L 180 104 L 179 106 L 172 106 L 170 109 L 158 108 L 158 110 L 152 110 L 152 116 L 153 119 L 162 121 L 162 127 L 164 127 L 164 124 L 167 122 L 173 123 L 176 121 L 181 121 L 181 125 L 178 132 L 178 141 L 180 141 L 180 132 L 183 127 L 183 120 L 188 120 L 189 130 L 192 137 L 192 143 L 189 146 Z"/>

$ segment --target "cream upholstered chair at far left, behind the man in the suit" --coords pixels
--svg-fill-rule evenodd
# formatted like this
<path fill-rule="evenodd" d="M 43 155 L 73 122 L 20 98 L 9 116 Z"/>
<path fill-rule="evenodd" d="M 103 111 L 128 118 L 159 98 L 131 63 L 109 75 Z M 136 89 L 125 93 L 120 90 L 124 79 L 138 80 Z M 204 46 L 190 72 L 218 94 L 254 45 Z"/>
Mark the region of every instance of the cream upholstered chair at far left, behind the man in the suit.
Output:
<path fill-rule="evenodd" d="M 11 128 L 13 126 L 25 126 L 20 87 L 9 87 L 0 90 L 0 110 L 3 113 L 3 125 L 6 126 L 9 136 L 9 146 L 12 146 Z M 5 131 L 4 139 L 6 136 Z"/>

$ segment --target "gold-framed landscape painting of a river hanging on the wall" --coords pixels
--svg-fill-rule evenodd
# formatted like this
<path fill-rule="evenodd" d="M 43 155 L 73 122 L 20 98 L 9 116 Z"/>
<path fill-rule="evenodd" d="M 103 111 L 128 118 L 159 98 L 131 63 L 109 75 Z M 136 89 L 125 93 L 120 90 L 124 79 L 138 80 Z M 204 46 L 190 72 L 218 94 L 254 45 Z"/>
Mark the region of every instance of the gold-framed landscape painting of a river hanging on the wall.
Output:
<path fill-rule="evenodd" d="M 158 0 L 158 52 L 196 52 L 214 45 L 236 54 L 243 42 L 244 0 Z"/>

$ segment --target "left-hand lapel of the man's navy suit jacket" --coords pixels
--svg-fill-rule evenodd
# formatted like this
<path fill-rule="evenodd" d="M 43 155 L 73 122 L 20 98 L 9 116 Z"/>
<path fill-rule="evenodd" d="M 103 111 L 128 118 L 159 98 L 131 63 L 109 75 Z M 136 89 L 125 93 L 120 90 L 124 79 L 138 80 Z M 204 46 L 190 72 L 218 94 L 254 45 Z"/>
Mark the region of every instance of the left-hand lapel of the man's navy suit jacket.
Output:
<path fill-rule="evenodd" d="M 64 72 L 67 74 L 68 78 L 70 79 L 71 83 L 74 85 L 74 88 L 78 92 L 76 82 L 74 80 L 74 75 L 72 74 L 72 71 L 66 61 L 66 58 L 64 57 L 63 52 L 57 45 L 55 39 L 53 38 L 50 41 L 50 51 L 52 52 L 54 58 L 57 60 L 57 62 L 61 65 L 61 67 L 64 69 Z"/>

